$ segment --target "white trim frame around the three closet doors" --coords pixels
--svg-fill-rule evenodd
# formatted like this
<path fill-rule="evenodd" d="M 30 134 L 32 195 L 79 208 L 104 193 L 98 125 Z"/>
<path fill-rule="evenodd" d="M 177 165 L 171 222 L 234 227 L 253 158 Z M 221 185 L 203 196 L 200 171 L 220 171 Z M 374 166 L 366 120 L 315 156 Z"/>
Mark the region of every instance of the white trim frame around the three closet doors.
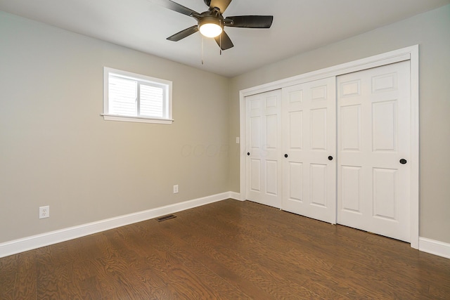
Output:
<path fill-rule="evenodd" d="M 321 70 L 307 72 L 294 77 L 288 77 L 268 84 L 254 86 L 239 91 L 240 105 L 240 200 L 245 200 L 246 170 L 245 151 L 247 138 L 245 136 L 245 97 L 256 93 L 282 89 L 286 86 L 302 84 L 308 81 L 337 77 L 350 72 L 367 70 L 372 67 L 380 67 L 391 63 L 399 63 L 404 60 L 410 61 L 411 78 L 411 200 L 410 200 L 410 234 L 411 247 L 419 247 L 419 46 L 409 46 L 395 51 L 382 53 L 349 63 L 327 67 Z"/>

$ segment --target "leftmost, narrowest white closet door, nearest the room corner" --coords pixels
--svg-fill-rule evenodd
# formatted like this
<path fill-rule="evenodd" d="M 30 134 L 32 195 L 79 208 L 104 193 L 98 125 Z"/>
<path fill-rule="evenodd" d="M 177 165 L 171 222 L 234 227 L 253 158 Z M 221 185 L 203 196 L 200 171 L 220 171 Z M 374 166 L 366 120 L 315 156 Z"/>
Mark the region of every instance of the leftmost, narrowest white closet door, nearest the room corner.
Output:
<path fill-rule="evenodd" d="M 247 200 L 281 207 L 281 90 L 245 97 Z"/>

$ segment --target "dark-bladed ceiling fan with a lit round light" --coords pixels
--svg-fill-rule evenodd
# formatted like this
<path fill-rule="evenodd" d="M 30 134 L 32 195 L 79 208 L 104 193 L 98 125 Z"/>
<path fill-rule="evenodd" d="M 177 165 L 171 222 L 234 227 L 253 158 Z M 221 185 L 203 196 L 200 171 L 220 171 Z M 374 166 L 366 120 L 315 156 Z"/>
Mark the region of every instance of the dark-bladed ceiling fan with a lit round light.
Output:
<path fill-rule="evenodd" d="M 167 39 L 169 41 L 179 41 L 200 31 L 203 36 L 214 38 L 221 50 L 226 50 L 234 46 L 228 34 L 224 32 L 224 27 L 270 28 L 274 20 L 273 15 L 238 15 L 224 18 L 223 13 L 231 3 L 231 0 L 203 0 L 210 7 L 203 13 L 197 13 L 171 0 L 151 1 L 197 20 L 197 25 L 188 27 L 168 37 Z"/>

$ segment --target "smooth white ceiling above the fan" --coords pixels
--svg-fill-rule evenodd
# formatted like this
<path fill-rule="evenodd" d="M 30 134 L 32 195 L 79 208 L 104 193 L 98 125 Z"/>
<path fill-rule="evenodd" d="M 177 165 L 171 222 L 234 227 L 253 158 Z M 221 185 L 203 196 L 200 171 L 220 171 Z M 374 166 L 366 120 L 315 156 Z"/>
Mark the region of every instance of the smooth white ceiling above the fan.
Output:
<path fill-rule="evenodd" d="M 175 0 L 199 13 L 203 0 Z M 151 0 L 0 0 L 0 11 L 233 77 L 262 65 L 450 4 L 450 0 L 233 0 L 230 15 L 274 15 L 270 29 L 226 27 L 234 47 L 223 51 L 196 33 L 172 34 L 196 24 Z"/>

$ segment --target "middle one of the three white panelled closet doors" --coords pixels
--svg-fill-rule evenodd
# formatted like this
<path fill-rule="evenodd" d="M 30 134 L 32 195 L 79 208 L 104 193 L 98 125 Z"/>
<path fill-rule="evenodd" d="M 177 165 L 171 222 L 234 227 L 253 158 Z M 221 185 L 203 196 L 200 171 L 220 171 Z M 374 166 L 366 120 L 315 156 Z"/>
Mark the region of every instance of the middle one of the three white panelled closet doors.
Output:
<path fill-rule="evenodd" d="M 336 223 L 335 77 L 283 88 L 283 210 Z"/>

